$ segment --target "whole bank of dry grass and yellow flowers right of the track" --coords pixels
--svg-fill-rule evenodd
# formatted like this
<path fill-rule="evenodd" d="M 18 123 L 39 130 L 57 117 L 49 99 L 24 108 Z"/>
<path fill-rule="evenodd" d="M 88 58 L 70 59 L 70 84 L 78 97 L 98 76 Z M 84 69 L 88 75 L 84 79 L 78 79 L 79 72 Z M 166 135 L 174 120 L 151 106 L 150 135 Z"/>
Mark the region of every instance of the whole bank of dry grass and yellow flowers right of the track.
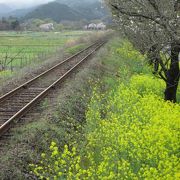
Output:
<path fill-rule="evenodd" d="M 180 106 L 163 100 L 146 58 L 126 40 L 109 42 L 38 119 L 13 130 L 0 177 L 178 179 Z"/>

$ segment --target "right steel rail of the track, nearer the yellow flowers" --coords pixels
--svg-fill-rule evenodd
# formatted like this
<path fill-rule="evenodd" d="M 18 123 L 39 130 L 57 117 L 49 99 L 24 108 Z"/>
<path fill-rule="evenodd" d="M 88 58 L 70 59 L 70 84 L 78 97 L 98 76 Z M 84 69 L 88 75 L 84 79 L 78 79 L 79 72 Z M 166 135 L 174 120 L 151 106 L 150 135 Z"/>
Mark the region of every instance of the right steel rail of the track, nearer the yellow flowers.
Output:
<path fill-rule="evenodd" d="M 31 100 L 28 104 L 26 104 L 21 110 L 19 110 L 15 115 L 13 115 L 9 120 L 7 120 L 3 125 L 0 126 L 0 137 L 10 129 L 11 125 L 18 120 L 22 116 L 24 116 L 32 107 L 34 107 L 38 102 L 40 102 L 45 96 L 48 95 L 49 91 L 53 89 L 57 84 L 62 83 L 79 65 L 81 65 L 85 60 L 87 60 L 91 55 L 94 54 L 101 46 L 103 46 L 105 42 L 99 44 L 92 52 L 90 52 L 87 56 L 81 59 L 76 65 L 74 65 L 70 70 L 68 70 L 64 75 L 62 75 L 59 79 L 53 82 L 49 87 L 47 87 L 43 92 L 37 95 L 33 100 Z M 26 83 L 25 83 L 26 84 Z M 23 87 L 23 86 L 22 86 Z"/>

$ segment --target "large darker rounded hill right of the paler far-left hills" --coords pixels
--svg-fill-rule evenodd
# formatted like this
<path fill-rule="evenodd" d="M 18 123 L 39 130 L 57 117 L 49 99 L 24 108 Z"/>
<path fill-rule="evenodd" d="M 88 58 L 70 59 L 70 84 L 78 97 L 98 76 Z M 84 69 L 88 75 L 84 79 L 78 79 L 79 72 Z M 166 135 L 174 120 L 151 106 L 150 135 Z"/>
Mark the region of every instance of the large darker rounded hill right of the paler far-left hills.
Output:
<path fill-rule="evenodd" d="M 102 4 L 97 0 L 93 1 L 65 1 L 57 0 L 45 5 L 41 5 L 33 11 L 27 13 L 23 19 L 32 18 L 51 18 L 56 22 L 70 20 L 94 20 L 104 19 L 109 15 L 107 8 L 102 7 Z"/>

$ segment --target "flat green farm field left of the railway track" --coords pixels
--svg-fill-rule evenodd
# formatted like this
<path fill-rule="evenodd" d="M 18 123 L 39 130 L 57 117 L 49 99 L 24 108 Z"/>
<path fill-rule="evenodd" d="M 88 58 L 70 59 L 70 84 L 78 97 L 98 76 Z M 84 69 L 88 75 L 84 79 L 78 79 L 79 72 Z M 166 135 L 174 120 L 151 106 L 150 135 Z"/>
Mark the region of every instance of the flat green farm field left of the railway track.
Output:
<path fill-rule="evenodd" d="M 0 32 L 0 79 L 55 54 L 69 40 L 88 32 Z"/>

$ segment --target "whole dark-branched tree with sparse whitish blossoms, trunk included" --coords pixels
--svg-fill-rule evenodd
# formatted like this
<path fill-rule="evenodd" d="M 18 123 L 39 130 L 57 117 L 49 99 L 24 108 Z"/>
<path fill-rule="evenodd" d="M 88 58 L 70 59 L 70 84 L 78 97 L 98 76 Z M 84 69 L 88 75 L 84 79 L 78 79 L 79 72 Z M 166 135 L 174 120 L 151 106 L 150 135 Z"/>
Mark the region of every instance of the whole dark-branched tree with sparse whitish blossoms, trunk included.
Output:
<path fill-rule="evenodd" d="M 176 102 L 180 78 L 180 0 L 105 0 L 126 37 L 166 82 L 165 100 Z"/>

